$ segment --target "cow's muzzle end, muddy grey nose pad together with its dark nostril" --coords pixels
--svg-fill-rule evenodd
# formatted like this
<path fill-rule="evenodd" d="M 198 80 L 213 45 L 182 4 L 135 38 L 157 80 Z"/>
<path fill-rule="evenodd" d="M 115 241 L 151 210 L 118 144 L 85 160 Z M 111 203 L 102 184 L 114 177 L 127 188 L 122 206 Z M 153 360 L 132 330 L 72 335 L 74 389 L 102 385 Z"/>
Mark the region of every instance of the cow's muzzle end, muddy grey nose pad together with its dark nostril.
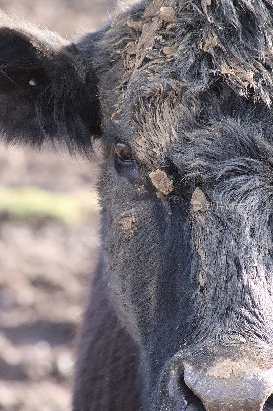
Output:
<path fill-rule="evenodd" d="M 273 411 L 273 361 L 268 356 L 199 357 L 174 364 L 161 380 L 160 392 L 167 391 L 169 398 L 162 398 L 160 411 Z"/>

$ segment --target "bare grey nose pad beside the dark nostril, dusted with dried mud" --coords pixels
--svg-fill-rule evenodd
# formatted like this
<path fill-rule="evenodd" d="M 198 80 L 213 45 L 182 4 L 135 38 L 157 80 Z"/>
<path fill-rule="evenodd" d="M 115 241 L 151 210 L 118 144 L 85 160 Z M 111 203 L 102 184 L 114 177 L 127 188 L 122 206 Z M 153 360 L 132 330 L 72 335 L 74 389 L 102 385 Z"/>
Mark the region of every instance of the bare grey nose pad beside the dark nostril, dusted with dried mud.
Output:
<path fill-rule="evenodd" d="M 249 359 L 222 358 L 202 366 L 186 362 L 184 382 L 206 411 L 262 411 L 271 401 L 273 368 L 268 361 L 257 364 Z"/>

